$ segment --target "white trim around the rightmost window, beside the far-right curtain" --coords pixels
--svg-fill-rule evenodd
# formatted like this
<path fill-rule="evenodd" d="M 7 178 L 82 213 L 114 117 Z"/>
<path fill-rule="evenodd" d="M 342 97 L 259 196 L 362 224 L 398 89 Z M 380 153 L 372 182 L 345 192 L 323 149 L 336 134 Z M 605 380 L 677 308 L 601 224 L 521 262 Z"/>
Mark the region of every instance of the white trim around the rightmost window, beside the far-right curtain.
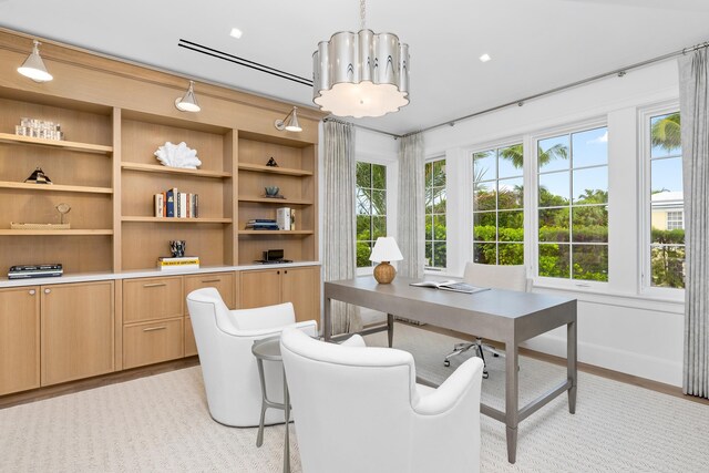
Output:
<path fill-rule="evenodd" d="M 651 286 L 650 267 L 650 119 L 679 111 L 679 101 L 668 101 L 659 104 L 638 109 L 638 162 L 640 163 L 638 186 L 638 257 L 640 260 L 640 274 L 638 286 L 640 295 L 669 301 L 685 300 L 685 289 L 654 287 Z"/>

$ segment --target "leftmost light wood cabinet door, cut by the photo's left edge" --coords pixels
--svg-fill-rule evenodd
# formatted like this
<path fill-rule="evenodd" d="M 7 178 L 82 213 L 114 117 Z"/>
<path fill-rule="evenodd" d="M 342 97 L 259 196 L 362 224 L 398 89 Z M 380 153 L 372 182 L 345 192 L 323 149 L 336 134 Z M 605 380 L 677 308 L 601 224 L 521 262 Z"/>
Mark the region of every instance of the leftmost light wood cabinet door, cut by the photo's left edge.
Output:
<path fill-rule="evenodd" d="M 40 385 L 39 291 L 0 290 L 0 395 Z"/>

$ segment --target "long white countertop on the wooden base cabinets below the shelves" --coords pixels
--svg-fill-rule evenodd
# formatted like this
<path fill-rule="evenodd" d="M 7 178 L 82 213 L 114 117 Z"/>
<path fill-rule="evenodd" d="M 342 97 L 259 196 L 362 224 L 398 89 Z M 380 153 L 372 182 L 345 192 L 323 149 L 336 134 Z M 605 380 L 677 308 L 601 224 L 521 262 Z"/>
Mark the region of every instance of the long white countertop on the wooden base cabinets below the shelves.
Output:
<path fill-rule="evenodd" d="M 49 278 L 8 279 L 6 277 L 6 278 L 0 278 L 0 288 L 56 285 L 56 284 L 70 284 L 70 282 L 91 282 L 91 281 L 104 281 L 104 280 L 117 280 L 117 279 L 134 279 L 134 278 L 155 278 L 155 277 L 169 277 L 169 276 L 183 276 L 183 275 L 198 275 L 204 273 L 246 271 L 246 270 L 253 270 L 253 269 L 297 268 L 299 266 L 320 266 L 320 263 L 319 261 L 297 261 L 297 263 L 280 263 L 280 264 L 274 264 L 274 265 L 254 264 L 254 265 L 243 265 L 243 266 L 203 266 L 199 269 L 183 269 L 183 270 L 169 270 L 169 271 L 163 271 L 155 268 L 155 269 L 121 271 L 121 273 L 74 273 L 66 276 L 49 277 Z"/>

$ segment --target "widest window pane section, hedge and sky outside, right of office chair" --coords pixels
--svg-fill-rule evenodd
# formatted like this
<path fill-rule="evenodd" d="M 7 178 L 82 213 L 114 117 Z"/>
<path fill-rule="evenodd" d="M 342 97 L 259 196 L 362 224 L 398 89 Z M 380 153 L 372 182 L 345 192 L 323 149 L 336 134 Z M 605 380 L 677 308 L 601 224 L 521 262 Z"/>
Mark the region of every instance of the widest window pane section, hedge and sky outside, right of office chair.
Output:
<path fill-rule="evenodd" d="M 608 280 L 608 130 L 537 141 L 540 276 Z"/>

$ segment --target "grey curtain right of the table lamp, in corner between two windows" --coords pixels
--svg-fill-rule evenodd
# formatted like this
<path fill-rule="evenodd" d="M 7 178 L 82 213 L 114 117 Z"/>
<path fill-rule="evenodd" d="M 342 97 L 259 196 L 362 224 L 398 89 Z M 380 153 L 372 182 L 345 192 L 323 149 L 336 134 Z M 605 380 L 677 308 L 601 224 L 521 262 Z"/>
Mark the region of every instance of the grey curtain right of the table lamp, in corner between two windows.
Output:
<path fill-rule="evenodd" d="M 423 136 L 403 136 L 399 143 L 399 275 L 409 278 L 423 276 L 424 261 L 424 183 Z"/>

